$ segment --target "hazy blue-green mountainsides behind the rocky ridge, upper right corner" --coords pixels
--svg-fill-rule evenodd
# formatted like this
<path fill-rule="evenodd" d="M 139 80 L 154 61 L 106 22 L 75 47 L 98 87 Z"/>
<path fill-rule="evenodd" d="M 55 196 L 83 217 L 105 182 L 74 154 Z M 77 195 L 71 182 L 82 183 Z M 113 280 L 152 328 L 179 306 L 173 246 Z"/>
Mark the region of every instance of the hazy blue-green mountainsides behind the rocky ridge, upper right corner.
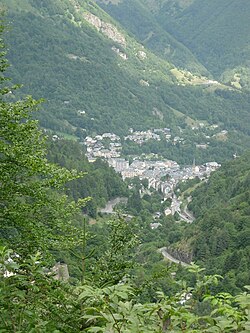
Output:
<path fill-rule="evenodd" d="M 250 89 L 248 0 L 97 2 L 174 64 L 200 71 L 205 67 L 225 83 Z"/>

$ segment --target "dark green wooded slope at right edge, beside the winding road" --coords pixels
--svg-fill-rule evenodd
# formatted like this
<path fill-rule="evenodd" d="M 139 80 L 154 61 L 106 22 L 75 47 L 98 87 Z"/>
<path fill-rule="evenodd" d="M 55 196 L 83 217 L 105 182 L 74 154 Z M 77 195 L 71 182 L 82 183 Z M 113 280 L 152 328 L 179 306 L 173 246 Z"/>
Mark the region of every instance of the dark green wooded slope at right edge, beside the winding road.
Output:
<path fill-rule="evenodd" d="M 232 292 L 249 284 L 250 153 L 225 163 L 192 193 L 194 260 L 225 277 Z"/>

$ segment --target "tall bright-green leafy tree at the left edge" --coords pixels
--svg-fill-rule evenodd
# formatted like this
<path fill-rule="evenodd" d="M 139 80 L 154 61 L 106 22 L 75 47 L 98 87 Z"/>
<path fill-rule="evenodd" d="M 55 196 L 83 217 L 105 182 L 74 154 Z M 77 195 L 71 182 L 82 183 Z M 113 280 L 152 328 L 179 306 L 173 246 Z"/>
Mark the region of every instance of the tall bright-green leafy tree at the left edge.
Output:
<path fill-rule="evenodd" d="M 1 46 L 3 46 L 1 44 Z M 6 67 L 1 54 L 1 73 Z M 0 97 L 0 239 L 16 251 L 32 253 L 69 247 L 77 239 L 72 222 L 86 200 L 70 202 L 59 194 L 64 184 L 82 177 L 46 159 L 45 137 L 32 114 L 38 102 L 31 97 L 10 101 L 1 78 Z"/>

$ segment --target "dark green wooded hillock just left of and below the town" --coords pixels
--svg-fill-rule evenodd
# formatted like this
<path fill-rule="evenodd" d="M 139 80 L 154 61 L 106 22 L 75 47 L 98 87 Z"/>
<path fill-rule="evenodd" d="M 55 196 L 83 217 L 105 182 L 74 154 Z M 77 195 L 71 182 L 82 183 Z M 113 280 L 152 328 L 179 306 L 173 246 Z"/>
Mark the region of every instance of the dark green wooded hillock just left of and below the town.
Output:
<path fill-rule="evenodd" d="M 48 150 L 48 159 L 51 162 L 78 172 L 86 171 L 83 178 L 67 183 L 66 188 L 68 195 L 75 200 L 91 197 L 91 200 L 83 207 L 84 213 L 91 217 L 95 218 L 98 208 L 104 207 L 107 201 L 128 195 L 128 190 L 120 175 L 100 158 L 89 163 L 85 150 L 79 143 L 58 140 L 50 142 Z"/>

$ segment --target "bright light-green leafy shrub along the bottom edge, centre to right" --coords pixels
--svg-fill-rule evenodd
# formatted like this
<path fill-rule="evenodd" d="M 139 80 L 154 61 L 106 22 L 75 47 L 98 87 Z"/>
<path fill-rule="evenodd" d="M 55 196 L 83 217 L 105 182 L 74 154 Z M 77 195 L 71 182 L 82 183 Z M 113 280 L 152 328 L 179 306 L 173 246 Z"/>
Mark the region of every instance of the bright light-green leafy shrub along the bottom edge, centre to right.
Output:
<path fill-rule="evenodd" d="M 216 276 L 204 276 L 194 287 L 185 286 L 172 296 L 159 292 L 155 303 L 145 304 L 135 301 L 134 290 L 127 284 L 102 289 L 85 285 L 78 288 L 78 300 L 83 305 L 83 318 L 90 326 L 87 332 L 247 331 L 250 295 L 212 295 L 210 287 L 217 282 Z"/>

